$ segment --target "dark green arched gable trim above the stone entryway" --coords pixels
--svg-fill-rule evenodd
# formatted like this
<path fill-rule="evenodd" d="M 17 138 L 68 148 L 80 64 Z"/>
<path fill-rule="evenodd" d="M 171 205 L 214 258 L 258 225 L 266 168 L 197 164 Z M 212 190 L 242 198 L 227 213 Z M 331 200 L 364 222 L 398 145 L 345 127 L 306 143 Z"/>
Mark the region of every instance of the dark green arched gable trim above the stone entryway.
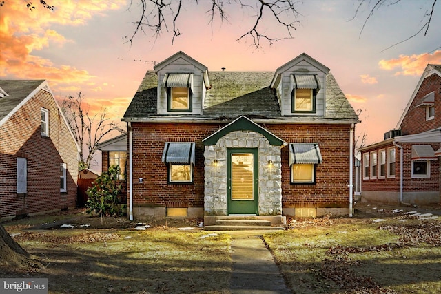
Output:
<path fill-rule="evenodd" d="M 269 141 L 269 144 L 273 146 L 282 146 L 285 144 L 285 141 L 281 140 L 277 136 L 274 136 L 271 132 L 268 132 L 260 125 L 254 123 L 252 120 L 249 120 L 246 116 L 240 116 L 240 118 L 234 120 L 232 123 L 229 123 L 222 129 L 219 129 L 217 132 L 214 132 L 207 138 L 203 139 L 202 142 L 205 146 L 207 145 L 216 145 L 218 140 L 223 136 L 235 132 L 235 131 L 252 131 L 258 134 L 261 134 Z"/>

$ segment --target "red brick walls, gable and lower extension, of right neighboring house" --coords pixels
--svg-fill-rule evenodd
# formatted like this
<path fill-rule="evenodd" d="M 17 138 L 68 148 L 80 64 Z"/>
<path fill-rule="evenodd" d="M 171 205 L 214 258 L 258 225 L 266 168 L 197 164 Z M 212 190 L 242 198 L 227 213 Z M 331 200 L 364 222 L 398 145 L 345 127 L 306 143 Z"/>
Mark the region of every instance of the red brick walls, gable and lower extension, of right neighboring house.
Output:
<path fill-rule="evenodd" d="M 383 142 L 360 149 L 362 152 L 362 198 L 371 202 L 385 202 L 398 204 L 428 204 L 440 202 L 440 158 L 435 152 L 441 147 L 441 138 L 438 132 L 429 132 L 441 127 L 441 76 L 437 68 L 439 65 L 427 65 L 420 79 L 416 93 L 409 101 L 400 124 L 401 136 L 390 138 Z M 438 73 L 437 73 L 438 72 Z M 433 92 L 433 94 L 432 94 Z M 433 101 L 428 97 L 433 95 Z M 433 118 L 427 118 L 429 106 L 435 108 Z M 395 143 L 395 145 L 393 145 Z M 397 147 L 396 145 L 402 147 Z M 433 153 L 429 160 L 418 157 L 412 158 L 413 146 L 430 145 Z M 379 154 L 381 149 L 390 147 L 396 150 L 395 177 L 372 178 L 365 176 L 365 154 L 372 152 Z M 402 174 L 401 158 L 402 151 Z M 386 152 L 389 156 L 388 152 Z M 426 154 L 427 156 L 427 154 Z M 378 155 L 379 158 L 379 155 Z M 424 176 L 413 176 L 413 165 L 423 161 L 426 167 L 430 166 L 429 173 Z M 371 162 L 369 162 L 371 165 Z M 402 189 L 400 181 L 402 180 Z"/>

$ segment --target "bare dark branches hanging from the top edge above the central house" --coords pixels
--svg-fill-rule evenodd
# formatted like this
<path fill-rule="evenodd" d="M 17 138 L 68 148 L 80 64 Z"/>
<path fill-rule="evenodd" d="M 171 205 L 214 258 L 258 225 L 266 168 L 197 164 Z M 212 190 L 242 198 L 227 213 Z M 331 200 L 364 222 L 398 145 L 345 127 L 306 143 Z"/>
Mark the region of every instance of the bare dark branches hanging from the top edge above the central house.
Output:
<path fill-rule="evenodd" d="M 146 34 L 145 28 L 153 32 L 154 38 L 158 38 L 164 31 L 172 32 L 172 44 L 177 36 L 181 36 L 178 26 L 178 19 L 181 11 L 187 10 L 188 6 L 196 3 L 197 5 L 207 6 L 205 14 L 207 22 L 211 25 L 218 17 L 221 22 L 229 22 L 228 10 L 240 8 L 249 13 L 249 18 L 254 19 L 252 26 L 238 36 L 237 41 L 251 37 L 256 48 L 260 48 L 260 41 L 265 40 L 269 44 L 279 41 L 281 38 L 270 36 L 263 33 L 260 25 L 263 22 L 264 14 L 268 15 L 273 21 L 285 30 L 285 38 L 292 38 L 292 33 L 299 24 L 299 12 L 295 8 L 297 0 L 136 0 L 141 7 L 141 16 L 134 22 L 136 28 L 131 36 L 125 36 L 125 43 L 132 43 L 134 37 L 139 32 Z M 134 5 L 134 0 L 130 1 L 130 7 Z"/>

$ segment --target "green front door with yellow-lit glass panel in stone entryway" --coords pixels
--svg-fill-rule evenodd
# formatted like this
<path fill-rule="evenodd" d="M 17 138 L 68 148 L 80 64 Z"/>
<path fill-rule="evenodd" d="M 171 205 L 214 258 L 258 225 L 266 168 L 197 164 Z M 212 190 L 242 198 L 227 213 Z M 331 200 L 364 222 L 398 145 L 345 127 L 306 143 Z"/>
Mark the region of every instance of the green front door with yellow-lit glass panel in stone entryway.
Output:
<path fill-rule="evenodd" d="M 258 152 L 227 149 L 228 214 L 258 214 Z"/>

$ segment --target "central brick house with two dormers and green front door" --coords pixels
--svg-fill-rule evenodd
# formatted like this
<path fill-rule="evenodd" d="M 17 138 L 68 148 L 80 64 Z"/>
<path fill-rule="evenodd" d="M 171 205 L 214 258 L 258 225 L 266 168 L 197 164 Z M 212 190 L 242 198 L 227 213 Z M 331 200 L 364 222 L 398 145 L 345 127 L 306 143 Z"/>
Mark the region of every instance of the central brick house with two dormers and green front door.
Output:
<path fill-rule="evenodd" d="M 208 72 L 183 52 L 147 71 L 124 114 L 130 218 L 352 213 L 358 116 L 329 68 Z"/>

